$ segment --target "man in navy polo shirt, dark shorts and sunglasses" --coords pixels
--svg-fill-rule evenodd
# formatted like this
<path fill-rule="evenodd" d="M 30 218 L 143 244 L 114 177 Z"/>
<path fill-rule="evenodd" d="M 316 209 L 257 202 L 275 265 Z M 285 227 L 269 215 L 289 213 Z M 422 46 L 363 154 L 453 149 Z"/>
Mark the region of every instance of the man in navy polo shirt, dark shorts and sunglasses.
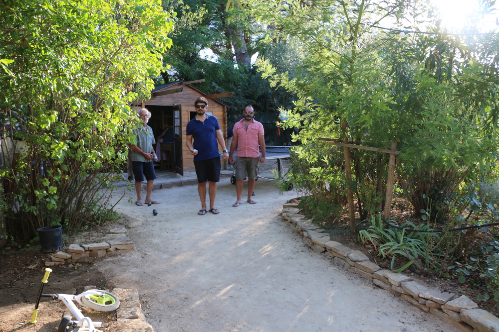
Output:
<path fill-rule="evenodd" d="M 225 146 L 224 136 L 220 130 L 218 119 L 206 114 L 208 100 L 200 97 L 194 103 L 196 116 L 187 123 L 186 144 L 191 155 L 194 156 L 194 167 L 198 177 L 198 193 L 201 200 L 201 210 L 198 215 L 203 216 L 208 211 L 217 215 L 215 209 L 215 196 L 217 195 L 217 182 L 220 181 L 220 154 L 217 141 L 224 150 L 224 160 L 229 159 L 229 151 Z M 193 142 L 194 138 L 194 142 Z M 209 183 L 210 210 L 206 210 L 206 182 Z"/>

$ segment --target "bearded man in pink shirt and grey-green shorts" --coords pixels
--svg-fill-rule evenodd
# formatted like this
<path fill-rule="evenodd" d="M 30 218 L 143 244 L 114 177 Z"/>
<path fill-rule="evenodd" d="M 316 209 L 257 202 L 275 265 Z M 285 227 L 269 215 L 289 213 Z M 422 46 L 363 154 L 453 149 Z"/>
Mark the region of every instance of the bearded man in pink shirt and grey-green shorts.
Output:
<path fill-rule="evenodd" d="M 263 136 L 263 125 L 256 121 L 254 116 L 254 109 L 248 105 L 243 112 L 244 118 L 236 122 L 233 129 L 233 139 L 231 144 L 231 151 L 229 152 L 229 164 L 234 161 L 234 150 L 238 147 L 236 152 L 236 194 L 238 200 L 232 206 L 237 208 L 241 204 L 241 197 L 243 196 L 243 181 L 248 173 L 248 200 L 250 204 L 256 204 L 251 199 L 253 193 L 254 183 L 258 175 L 258 163 L 265 162 L 265 138 Z M 261 150 L 261 156 L 258 149 Z"/>

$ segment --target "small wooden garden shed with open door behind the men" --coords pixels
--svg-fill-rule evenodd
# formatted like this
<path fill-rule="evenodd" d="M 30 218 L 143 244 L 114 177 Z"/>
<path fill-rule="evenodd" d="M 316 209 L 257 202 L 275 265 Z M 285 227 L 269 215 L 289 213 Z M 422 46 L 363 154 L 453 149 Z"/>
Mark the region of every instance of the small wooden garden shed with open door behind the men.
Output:
<path fill-rule="evenodd" d="M 207 113 L 218 118 L 227 144 L 228 106 L 216 98 L 232 97 L 234 93 L 207 95 L 193 85 L 204 81 L 177 81 L 157 86 L 151 92 L 151 99 L 142 102 L 141 105 L 151 112 L 148 125 L 153 129 L 155 138 L 168 129 L 161 143 L 161 149 L 167 152 L 166 169 L 180 175 L 184 175 L 185 171 L 194 171 L 194 157 L 186 146 L 186 125 L 196 116 L 194 102 L 199 97 L 208 100 Z M 134 109 L 139 109 L 141 106 L 137 105 Z M 222 152 L 220 145 L 219 151 Z"/>

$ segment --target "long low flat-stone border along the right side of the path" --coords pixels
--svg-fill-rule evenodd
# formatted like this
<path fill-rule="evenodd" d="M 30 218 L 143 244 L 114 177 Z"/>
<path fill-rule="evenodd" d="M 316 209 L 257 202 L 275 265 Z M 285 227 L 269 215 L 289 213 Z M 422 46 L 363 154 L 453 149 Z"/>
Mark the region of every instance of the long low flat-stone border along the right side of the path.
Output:
<path fill-rule="evenodd" d="M 364 253 L 339 242 L 331 241 L 324 230 L 312 220 L 300 215 L 297 204 L 286 203 L 282 219 L 303 236 L 303 242 L 314 251 L 331 258 L 344 269 L 355 272 L 378 287 L 387 290 L 425 312 L 429 312 L 462 332 L 499 332 L 499 318 L 478 309 L 478 305 L 465 295 L 429 289 L 402 273 L 384 270 L 371 262 Z"/>

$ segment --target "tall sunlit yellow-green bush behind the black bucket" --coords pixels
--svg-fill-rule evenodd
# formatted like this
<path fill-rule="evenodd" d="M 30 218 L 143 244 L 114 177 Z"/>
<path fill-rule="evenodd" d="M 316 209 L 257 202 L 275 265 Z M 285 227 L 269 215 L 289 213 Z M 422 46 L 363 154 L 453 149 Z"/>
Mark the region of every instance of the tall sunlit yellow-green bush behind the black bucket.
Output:
<path fill-rule="evenodd" d="M 45 225 L 102 222 L 137 125 L 130 105 L 166 69 L 171 14 L 146 0 L 3 4 L 1 139 L 25 142 L 15 159 L 4 150 L 7 231 L 26 240 Z"/>

